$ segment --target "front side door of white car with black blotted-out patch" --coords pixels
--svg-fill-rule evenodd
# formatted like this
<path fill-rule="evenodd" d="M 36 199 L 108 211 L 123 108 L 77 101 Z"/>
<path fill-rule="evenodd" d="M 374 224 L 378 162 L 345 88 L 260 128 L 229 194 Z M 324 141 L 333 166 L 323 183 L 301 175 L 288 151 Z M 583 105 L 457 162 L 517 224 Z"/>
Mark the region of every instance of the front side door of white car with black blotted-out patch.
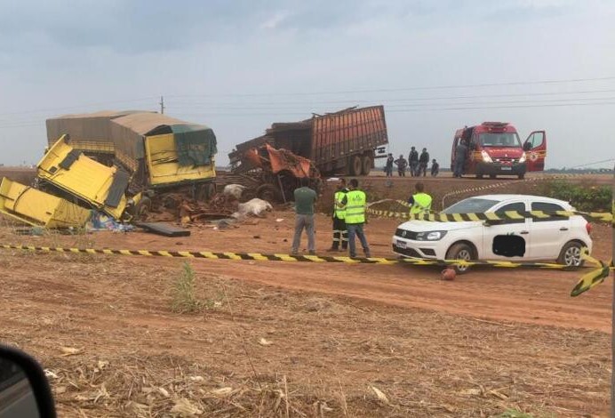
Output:
<path fill-rule="evenodd" d="M 504 216 L 505 212 L 508 211 L 524 212 L 526 210 L 525 200 L 519 199 L 517 201 L 507 201 L 499 206 L 495 206 L 493 212 Z M 512 257 L 502 255 L 501 243 L 505 239 L 503 236 L 515 236 L 509 239 L 514 239 L 516 241 L 522 241 L 521 238 L 523 238 L 523 255 L 518 254 Z M 522 260 L 529 255 L 528 249 L 531 245 L 530 240 L 530 220 L 528 218 L 485 221 L 483 222 L 483 254 L 479 254 L 479 257 L 486 260 Z M 500 251 L 498 251 L 499 249 Z"/>

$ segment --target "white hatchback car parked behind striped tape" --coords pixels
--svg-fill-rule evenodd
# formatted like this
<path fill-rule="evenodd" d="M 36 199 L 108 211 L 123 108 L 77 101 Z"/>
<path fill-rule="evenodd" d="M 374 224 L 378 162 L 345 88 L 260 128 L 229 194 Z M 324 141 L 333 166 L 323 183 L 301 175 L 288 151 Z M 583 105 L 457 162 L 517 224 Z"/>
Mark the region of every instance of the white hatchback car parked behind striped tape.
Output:
<path fill-rule="evenodd" d="M 573 211 L 563 200 L 528 195 L 485 195 L 461 200 L 443 213 Z M 591 224 L 579 215 L 505 221 L 407 221 L 395 230 L 393 251 L 403 257 L 439 260 L 553 261 L 580 266 L 591 252 Z M 458 273 L 467 267 L 456 266 Z"/>

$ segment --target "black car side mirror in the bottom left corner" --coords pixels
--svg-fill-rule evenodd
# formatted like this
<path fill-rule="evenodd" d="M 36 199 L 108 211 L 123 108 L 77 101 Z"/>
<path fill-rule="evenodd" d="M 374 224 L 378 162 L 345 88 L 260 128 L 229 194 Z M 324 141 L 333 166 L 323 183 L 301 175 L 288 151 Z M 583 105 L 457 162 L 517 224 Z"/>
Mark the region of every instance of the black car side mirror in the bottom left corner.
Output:
<path fill-rule="evenodd" d="M 41 366 L 25 352 L 0 345 L 0 418 L 56 417 Z"/>

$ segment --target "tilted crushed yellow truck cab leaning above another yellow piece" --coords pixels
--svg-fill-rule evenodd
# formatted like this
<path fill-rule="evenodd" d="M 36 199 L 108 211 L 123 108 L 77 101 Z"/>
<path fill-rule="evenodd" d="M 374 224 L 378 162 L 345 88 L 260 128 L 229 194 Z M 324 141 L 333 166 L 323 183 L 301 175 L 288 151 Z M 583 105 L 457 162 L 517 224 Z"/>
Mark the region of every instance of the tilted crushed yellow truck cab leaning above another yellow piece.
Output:
<path fill-rule="evenodd" d="M 42 187 L 52 186 L 119 220 L 127 205 L 130 174 L 94 161 L 67 143 L 62 135 L 37 165 Z"/>

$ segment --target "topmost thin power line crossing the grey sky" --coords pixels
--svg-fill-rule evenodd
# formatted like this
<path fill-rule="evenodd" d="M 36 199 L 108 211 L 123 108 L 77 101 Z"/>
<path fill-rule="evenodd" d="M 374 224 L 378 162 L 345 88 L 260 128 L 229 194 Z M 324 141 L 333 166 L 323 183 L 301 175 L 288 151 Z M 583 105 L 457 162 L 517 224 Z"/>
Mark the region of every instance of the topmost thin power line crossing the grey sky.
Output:
<path fill-rule="evenodd" d="M 388 88 L 388 89 L 368 89 L 368 90 L 341 90 L 337 92 L 277 92 L 277 93 L 217 93 L 217 94 L 187 94 L 187 95 L 169 95 L 170 97 L 260 97 L 260 96 L 315 96 L 315 95 L 331 95 L 331 94 L 348 94 L 348 93 L 365 93 L 365 92 L 412 92 L 425 90 L 446 90 L 446 89 L 464 89 L 464 88 L 484 88 L 498 87 L 511 85 L 536 85 L 536 84 L 568 84 L 568 83 L 587 83 L 593 81 L 610 81 L 615 80 L 615 76 L 595 77 L 595 78 L 570 78 L 564 80 L 539 80 L 539 81 L 519 81 L 507 83 L 484 83 L 484 84 L 450 84 L 450 85 L 434 85 L 434 86 L 414 86 L 403 88 Z"/>

